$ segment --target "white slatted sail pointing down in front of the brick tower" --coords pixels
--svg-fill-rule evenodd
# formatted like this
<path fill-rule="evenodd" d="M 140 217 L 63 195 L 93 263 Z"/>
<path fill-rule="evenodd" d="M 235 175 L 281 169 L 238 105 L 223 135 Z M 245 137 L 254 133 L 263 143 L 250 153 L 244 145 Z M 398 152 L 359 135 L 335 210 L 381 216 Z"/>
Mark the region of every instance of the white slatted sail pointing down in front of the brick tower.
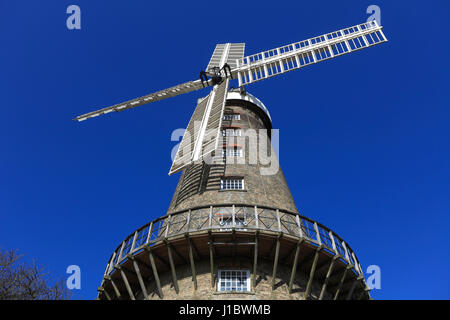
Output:
<path fill-rule="evenodd" d="M 215 85 L 201 100 L 188 123 L 178 147 L 169 175 L 195 161 L 202 160 L 217 149 L 229 80 Z"/>

